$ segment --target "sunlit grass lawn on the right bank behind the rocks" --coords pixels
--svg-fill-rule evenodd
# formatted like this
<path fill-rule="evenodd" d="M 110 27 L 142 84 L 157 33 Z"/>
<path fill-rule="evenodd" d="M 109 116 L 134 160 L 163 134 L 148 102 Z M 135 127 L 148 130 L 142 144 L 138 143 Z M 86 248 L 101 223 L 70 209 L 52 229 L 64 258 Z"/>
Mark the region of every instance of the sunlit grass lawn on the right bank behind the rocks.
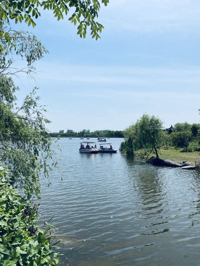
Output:
<path fill-rule="evenodd" d="M 180 152 L 172 146 L 168 147 L 168 150 L 166 150 L 166 147 L 161 148 L 160 153 L 158 155 L 162 159 L 168 159 L 178 163 L 187 161 L 191 162 L 192 164 L 195 164 L 195 161 L 200 161 L 200 152 Z M 155 156 L 155 154 L 151 153 L 149 157 L 151 156 Z"/>

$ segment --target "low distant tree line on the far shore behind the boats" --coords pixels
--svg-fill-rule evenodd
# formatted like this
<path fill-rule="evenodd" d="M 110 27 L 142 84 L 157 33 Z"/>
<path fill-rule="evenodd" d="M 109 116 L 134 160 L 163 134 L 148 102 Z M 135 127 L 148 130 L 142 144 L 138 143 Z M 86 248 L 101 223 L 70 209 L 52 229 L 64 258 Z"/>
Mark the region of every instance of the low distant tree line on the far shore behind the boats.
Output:
<path fill-rule="evenodd" d="M 95 130 L 94 132 L 90 132 L 89 129 L 83 129 L 81 131 L 73 131 L 72 129 L 68 129 L 67 132 L 64 133 L 64 130 L 59 130 L 59 132 L 53 132 L 58 134 L 60 137 L 69 137 L 69 138 L 76 138 L 76 137 L 89 137 L 89 138 L 97 138 L 97 137 L 104 137 L 104 138 L 123 138 L 124 133 L 120 130 Z"/>

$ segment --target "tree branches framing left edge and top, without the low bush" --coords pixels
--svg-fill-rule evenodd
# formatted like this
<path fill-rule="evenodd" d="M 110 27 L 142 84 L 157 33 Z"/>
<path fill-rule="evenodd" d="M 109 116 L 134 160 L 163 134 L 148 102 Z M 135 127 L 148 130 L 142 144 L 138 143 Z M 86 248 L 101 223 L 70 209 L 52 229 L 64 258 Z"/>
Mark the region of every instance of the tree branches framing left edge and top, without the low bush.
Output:
<path fill-rule="evenodd" d="M 105 6 L 108 2 L 102 0 Z M 18 106 L 14 93 L 19 88 L 14 85 L 11 76 L 19 72 L 32 76 L 35 61 L 48 51 L 36 36 L 25 31 L 15 31 L 10 27 L 10 22 L 25 22 L 35 27 L 42 8 L 53 11 L 58 20 L 63 19 L 63 15 L 68 16 L 70 11 L 72 15 L 68 19 L 74 25 L 77 24 L 80 37 L 85 38 L 89 27 L 92 38 L 97 40 L 103 29 L 103 25 L 96 21 L 100 9 L 97 0 L 0 2 L 0 159 L 3 165 L 9 166 L 13 186 L 25 188 L 29 198 L 32 195 L 39 197 L 39 173 L 43 171 L 48 176 L 58 162 L 52 149 L 52 138 L 45 127 L 50 121 L 44 116 L 45 108 L 39 105 L 37 88 L 27 94 L 23 104 Z M 25 68 L 13 67 L 13 52 L 25 59 Z"/>

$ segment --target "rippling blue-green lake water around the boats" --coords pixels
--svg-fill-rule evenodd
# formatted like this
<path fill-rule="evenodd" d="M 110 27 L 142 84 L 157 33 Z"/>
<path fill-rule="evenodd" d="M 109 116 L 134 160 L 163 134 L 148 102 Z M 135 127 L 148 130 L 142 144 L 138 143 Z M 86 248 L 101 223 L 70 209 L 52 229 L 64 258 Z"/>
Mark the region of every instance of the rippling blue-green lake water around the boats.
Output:
<path fill-rule="evenodd" d="M 64 265 L 200 265 L 200 173 L 82 154 L 80 141 L 58 140 L 59 170 L 41 177 L 41 217 L 56 214 Z"/>

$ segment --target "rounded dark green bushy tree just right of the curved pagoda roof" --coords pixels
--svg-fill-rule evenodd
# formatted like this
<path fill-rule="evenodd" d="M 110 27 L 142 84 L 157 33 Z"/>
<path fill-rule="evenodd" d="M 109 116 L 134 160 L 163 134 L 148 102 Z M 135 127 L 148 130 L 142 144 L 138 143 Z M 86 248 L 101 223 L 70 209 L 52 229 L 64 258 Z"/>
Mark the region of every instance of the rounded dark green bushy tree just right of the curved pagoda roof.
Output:
<path fill-rule="evenodd" d="M 192 140 L 191 131 L 180 131 L 171 134 L 172 143 L 175 148 L 182 148 L 182 152 L 187 152 L 188 145 Z M 183 149 L 185 148 L 185 149 Z"/>

